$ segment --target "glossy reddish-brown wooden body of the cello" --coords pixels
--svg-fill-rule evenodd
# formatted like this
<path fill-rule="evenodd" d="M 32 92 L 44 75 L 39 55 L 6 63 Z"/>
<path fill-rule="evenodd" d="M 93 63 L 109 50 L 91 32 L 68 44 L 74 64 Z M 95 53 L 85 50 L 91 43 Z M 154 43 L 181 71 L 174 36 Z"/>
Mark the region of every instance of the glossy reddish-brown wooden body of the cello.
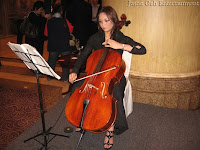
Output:
<path fill-rule="evenodd" d="M 72 125 L 97 133 L 111 127 L 117 114 L 117 100 L 112 91 L 124 74 L 125 63 L 118 52 L 106 48 L 93 52 L 86 64 L 87 75 L 112 67 L 115 69 L 85 79 L 71 95 L 65 115 Z"/>

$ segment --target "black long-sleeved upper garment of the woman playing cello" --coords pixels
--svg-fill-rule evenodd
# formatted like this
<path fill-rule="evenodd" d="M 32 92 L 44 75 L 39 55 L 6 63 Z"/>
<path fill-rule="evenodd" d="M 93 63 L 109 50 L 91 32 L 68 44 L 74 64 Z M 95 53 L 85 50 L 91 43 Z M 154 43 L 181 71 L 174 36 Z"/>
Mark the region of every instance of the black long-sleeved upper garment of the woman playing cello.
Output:
<path fill-rule="evenodd" d="M 133 47 L 133 49 L 131 51 L 132 54 L 145 54 L 146 53 L 146 49 L 142 44 L 135 42 L 133 39 L 131 39 L 128 36 L 125 36 L 120 31 L 117 31 L 116 36 L 113 39 L 119 43 L 131 45 Z M 79 69 L 81 68 L 82 64 L 86 61 L 88 56 L 91 54 L 92 50 L 95 51 L 95 50 L 104 48 L 104 46 L 102 45 L 102 43 L 104 41 L 105 41 L 105 35 L 103 32 L 99 31 L 99 32 L 95 33 L 94 35 L 92 35 L 89 38 L 89 40 L 88 40 L 85 48 L 81 52 L 80 56 L 78 57 L 78 60 L 76 61 L 75 65 L 74 65 L 73 72 L 78 74 Z M 141 48 L 137 49 L 135 47 L 137 45 L 141 46 Z M 121 55 L 123 53 L 122 49 L 118 49 L 116 51 L 118 51 Z"/>

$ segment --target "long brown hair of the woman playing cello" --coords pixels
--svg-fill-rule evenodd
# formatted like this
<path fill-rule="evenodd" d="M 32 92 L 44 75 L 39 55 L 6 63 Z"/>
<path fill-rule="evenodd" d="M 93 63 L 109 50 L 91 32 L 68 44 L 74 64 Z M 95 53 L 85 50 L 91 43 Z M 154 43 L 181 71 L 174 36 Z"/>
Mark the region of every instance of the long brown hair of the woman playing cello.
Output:
<path fill-rule="evenodd" d="M 99 22 L 99 14 L 100 13 L 105 13 L 108 17 L 113 22 L 113 28 L 111 31 L 111 38 L 114 38 L 116 31 L 119 30 L 119 19 L 117 16 L 117 12 L 111 7 L 111 6 L 106 6 L 102 7 L 101 10 L 98 13 L 97 16 L 97 21 Z M 100 31 L 103 31 L 98 23 L 98 28 Z"/>

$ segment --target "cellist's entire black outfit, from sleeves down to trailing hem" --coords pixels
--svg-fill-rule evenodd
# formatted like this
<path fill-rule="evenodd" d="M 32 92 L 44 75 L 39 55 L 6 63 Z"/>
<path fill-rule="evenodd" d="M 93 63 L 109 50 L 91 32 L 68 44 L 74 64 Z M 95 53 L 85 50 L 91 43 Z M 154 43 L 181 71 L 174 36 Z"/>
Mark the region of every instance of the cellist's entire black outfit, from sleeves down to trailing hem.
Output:
<path fill-rule="evenodd" d="M 134 40 L 132 40 L 131 38 L 125 36 L 120 31 L 118 31 L 116 33 L 116 35 L 113 39 L 120 43 L 131 45 L 133 47 L 133 49 L 131 51 L 132 54 L 145 54 L 146 53 L 146 49 L 143 45 L 141 45 L 141 44 L 135 42 Z M 88 40 L 85 48 L 83 49 L 80 56 L 78 57 L 72 72 L 79 74 L 79 70 L 80 70 L 82 64 L 85 62 L 85 60 L 88 58 L 88 56 L 92 53 L 92 50 L 95 51 L 95 50 L 104 48 L 104 46 L 102 45 L 102 43 L 104 41 L 105 41 L 105 35 L 103 32 L 99 31 L 96 34 L 94 34 L 93 36 L 91 36 L 90 39 Z M 135 47 L 137 45 L 141 46 L 141 48 L 137 49 Z M 119 52 L 121 55 L 123 53 L 122 49 L 118 49 L 116 51 Z M 84 81 L 76 82 L 73 85 L 72 93 L 74 92 L 75 88 L 80 87 L 83 84 L 83 82 Z M 123 76 L 121 78 L 120 82 L 115 84 L 115 86 L 113 88 L 113 96 L 117 99 L 117 117 L 116 117 L 116 120 L 114 123 L 115 124 L 115 129 L 114 129 L 115 134 L 121 134 L 128 129 L 128 124 L 127 124 L 126 116 L 125 116 L 125 110 L 124 110 L 124 106 L 123 106 L 125 86 L 126 86 L 126 79 Z"/>

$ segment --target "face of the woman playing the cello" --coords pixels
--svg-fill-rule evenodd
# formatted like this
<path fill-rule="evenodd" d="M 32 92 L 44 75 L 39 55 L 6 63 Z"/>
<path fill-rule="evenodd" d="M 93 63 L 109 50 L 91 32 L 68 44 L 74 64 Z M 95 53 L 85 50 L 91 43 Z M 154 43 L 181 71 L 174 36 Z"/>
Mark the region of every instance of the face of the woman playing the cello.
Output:
<path fill-rule="evenodd" d="M 104 32 L 109 33 L 111 33 L 114 26 L 113 21 L 110 20 L 104 12 L 99 14 L 99 25 Z"/>

